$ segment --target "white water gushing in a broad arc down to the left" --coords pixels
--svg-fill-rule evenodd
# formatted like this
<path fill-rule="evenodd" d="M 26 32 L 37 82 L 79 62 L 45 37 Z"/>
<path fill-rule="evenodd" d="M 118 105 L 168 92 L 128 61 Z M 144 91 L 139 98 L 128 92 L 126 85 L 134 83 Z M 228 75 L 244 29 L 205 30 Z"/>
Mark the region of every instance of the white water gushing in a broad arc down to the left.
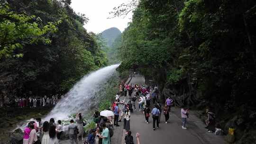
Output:
<path fill-rule="evenodd" d="M 119 64 L 110 65 L 84 76 L 44 119 L 49 120 L 51 117 L 65 119 L 70 114 L 85 113 L 90 107 L 92 99 L 102 90 L 102 83 L 111 77 L 118 66 Z"/>

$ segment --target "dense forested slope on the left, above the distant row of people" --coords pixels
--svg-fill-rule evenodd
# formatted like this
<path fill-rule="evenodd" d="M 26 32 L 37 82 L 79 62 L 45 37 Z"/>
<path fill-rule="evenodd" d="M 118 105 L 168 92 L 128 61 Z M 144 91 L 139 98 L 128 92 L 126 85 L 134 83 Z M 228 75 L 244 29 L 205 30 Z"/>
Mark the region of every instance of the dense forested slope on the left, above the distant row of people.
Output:
<path fill-rule="evenodd" d="M 108 64 L 70 0 L 1 0 L 0 89 L 4 96 L 64 93 Z"/>

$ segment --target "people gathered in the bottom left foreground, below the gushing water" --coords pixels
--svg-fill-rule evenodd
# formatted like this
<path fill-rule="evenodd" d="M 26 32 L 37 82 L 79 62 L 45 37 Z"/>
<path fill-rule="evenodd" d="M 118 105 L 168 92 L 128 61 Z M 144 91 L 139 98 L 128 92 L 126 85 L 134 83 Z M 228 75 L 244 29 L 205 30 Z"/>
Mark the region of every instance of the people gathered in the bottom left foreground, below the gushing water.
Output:
<path fill-rule="evenodd" d="M 74 121 L 76 124 L 74 124 Z M 75 119 L 70 120 L 67 126 L 67 132 L 70 139 L 70 144 L 77 144 L 78 140 L 83 140 L 83 118 L 82 114 L 76 114 Z M 31 118 L 24 129 L 23 144 L 59 144 L 61 134 L 64 131 L 62 121 L 51 118 L 49 121 L 44 121 L 40 117 Z"/>

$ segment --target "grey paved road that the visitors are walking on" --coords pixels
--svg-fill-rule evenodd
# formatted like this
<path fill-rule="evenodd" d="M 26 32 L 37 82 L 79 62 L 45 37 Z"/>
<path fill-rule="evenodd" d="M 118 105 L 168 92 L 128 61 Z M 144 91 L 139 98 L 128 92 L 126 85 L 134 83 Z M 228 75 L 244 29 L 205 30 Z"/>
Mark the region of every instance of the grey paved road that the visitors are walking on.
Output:
<path fill-rule="evenodd" d="M 137 75 L 130 83 L 145 84 L 145 79 Z M 167 124 L 164 123 L 162 115 L 159 128 L 153 131 L 152 117 L 149 118 L 147 125 L 144 115 L 140 111 L 134 112 L 130 119 L 134 139 L 138 132 L 141 135 L 141 144 L 225 144 L 222 136 L 207 133 L 204 124 L 193 113 L 188 119 L 188 129 L 182 129 L 179 108 L 172 108 L 171 114 Z"/>

